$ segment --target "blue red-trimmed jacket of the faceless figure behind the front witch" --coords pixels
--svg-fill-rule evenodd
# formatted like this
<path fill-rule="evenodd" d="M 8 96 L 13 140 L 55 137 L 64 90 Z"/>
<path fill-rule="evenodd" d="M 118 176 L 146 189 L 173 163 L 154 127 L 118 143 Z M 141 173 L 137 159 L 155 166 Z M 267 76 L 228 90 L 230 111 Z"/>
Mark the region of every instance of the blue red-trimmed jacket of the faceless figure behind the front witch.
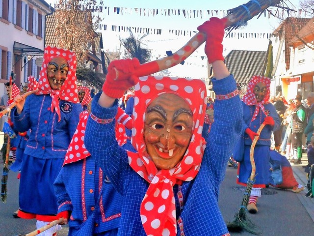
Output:
<path fill-rule="evenodd" d="M 99 206 L 97 200 L 104 187 Z M 54 182 L 58 212 L 69 210 L 69 236 L 87 220 L 94 210 L 94 233 L 117 231 L 121 217 L 122 195 L 113 187 L 91 156 L 62 167 Z"/>

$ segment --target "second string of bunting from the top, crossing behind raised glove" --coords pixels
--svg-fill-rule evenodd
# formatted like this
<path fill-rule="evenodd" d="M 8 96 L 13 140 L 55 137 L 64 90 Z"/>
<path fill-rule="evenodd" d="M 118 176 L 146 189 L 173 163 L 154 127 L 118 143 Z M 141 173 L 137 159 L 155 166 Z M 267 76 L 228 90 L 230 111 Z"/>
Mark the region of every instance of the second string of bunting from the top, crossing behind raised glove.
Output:
<path fill-rule="evenodd" d="M 133 33 L 143 33 L 143 34 L 161 34 L 162 32 L 168 32 L 169 34 L 173 34 L 176 36 L 194 36 L 198 31 L 197 30 L 181 30 L 181 29 L 168 29 L 168 30 L 162 30 L 162 29 L 154 29 L 154 28 L 143 28 L 143 27 L 127 27 L 127 26 L 114 26 L 112 25 L 107 26 L 105 24 L 98 24 L 98 30 L 110 30 L 114 32 L 130 32 Z M 269 39 L 273 34 L 272 33 L 266 33 L 266 32 L 230 32 L 227 35 L 227 38 L 261 38 L 261 39 Z"/>

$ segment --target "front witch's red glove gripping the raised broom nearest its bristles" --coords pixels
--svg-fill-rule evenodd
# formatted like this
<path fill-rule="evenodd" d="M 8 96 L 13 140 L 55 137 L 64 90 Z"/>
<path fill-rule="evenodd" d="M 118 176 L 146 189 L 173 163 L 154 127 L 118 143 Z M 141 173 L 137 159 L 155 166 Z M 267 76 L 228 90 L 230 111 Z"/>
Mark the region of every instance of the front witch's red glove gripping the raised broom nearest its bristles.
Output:
<path fill-rule="evenodd" d="M 224 60 L 222 56 L 223 45 L 221 43 L 225 35 L 226 22 L 227 19 L 211 17 L 209 21 L 197 28 L 200 32 L 206 34 L 205 54 L 209 63 L 215 60 Z"/>

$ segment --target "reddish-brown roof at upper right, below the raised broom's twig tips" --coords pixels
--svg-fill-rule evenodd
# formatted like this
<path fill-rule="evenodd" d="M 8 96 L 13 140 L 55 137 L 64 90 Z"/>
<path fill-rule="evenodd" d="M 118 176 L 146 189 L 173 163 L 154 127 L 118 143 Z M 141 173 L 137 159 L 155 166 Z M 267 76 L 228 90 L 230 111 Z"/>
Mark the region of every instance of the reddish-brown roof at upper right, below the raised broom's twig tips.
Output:
<path fill-rule="evenodd" d="M 279 38 L 282 37 L 283 33 L 285 35 L 285 62 L 286 70 L 290 68 L 290 48 L 289 42 L 297 33 L 310 21 L 310 18 L 295 18 L 287 17 L 277 29 L 274 30 L 274 34 L 278 35 Z"/>

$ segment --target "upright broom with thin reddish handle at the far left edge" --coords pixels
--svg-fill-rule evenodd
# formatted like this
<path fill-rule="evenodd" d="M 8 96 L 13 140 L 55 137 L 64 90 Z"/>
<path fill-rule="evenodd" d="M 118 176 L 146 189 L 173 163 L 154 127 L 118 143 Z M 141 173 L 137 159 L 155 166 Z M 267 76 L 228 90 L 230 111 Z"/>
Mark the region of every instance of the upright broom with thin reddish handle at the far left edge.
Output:
<path fill-rule="evenodd" d="M 9 90 L 9 100 L 12 96 L 12 77 L 10 76 L 10 90 Z M 8 119 L 10 119 L 10 113 L 8 116 Z M 8 140 L 6 143 L 6 153 L 5 153 L 5 162 L 3 164 L 2 169 L 2 178 L 1 178 L 1 201 L 3 203 L 6 203 L 7 199 L 7 182 L 8 182 L 8 174 L 9 174 L 9 154 L 10 154 L 10 137 L 8 136 Z"/>

